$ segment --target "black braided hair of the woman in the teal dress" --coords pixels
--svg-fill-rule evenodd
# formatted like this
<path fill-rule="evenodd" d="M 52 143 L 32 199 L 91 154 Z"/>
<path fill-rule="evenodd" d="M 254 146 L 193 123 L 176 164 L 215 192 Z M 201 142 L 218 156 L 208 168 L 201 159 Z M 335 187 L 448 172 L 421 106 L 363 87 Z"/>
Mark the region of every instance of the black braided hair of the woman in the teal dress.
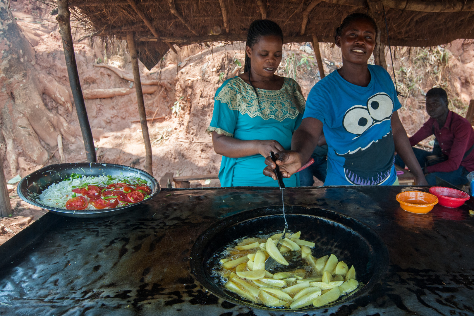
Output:
<path fill-rule="evenodd" d="M 282 29 L 278 26 L 278 24 L 270 20 L 255 20 L 252 22 L 252 24 L 250 24 L 250 27 L 248 28 L 246 46 L 252 48 L 259 41 L 260 37 L 272 35 L 281 37 L 283 42 L 283 32 Z M 258 102 L 258 93 L 255 89 L 254 84 L 252 83 L 252 79 L 250 78 L 250 57 L 248 57 L 247 52 L 245 53 L 244 72 L 248 72 L 248 81 L 250 82 L 252 88 L 254 88 L 255 90 Z"/>

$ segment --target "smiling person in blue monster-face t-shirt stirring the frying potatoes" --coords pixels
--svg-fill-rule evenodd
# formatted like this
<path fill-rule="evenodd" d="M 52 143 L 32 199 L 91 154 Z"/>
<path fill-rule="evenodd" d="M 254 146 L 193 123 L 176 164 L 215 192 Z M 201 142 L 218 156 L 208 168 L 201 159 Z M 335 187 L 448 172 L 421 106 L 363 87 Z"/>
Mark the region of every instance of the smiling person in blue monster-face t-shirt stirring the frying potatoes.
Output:
<path fill-rule="evenodd" d="M 289 177 L 307 161 L 324 131 L 328 170 L 324 185 L 398 184 L 394 152 L 402 157 L 419 185 L 428 184 L 411 149 L 397 110 L 401 107 L 392 79 L 383 67 L 369 65 L 377 27 L 355 13 L 336 31 L 342 67 L 310 91 L 292 150 L 279 153 L 277 164 Z M 275 163 L 265 160 L 264 174 L 276 179 Z"/>

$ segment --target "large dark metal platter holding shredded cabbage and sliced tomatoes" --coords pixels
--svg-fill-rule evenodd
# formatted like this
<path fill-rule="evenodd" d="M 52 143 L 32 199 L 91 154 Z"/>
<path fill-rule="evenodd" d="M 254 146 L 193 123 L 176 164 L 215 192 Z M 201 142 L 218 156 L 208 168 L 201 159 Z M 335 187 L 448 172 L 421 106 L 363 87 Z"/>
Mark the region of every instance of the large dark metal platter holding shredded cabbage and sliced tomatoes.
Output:
<path fill-rule="evenodd" d="M 126 176 L 140 177 L 146 181 L 151 182 L 150 198 L 153 198 L 161 190 L 160 184 L 156 179 L 143 170 L 113 163 L 60 163 L 52 164 L 36 170 L 21 179 L 17 186 L 18 196 L 25 202 L 36 205 L 40 208 L 49 210 L 50 212 L 68 216 L 68 217 L 105 217 L 115 214 L 120 214 L 134 208 L 139 203 L 144 203 L 149 199 L 141 202 L 123 206 L 119 208 L 108 209 L 88 209 L 88 210 L 70 210 L 64 208 L 52 208 L 41 203 L 35 199 L 36 194 L 41 194 L 43 190 L 48 188 L 51 184 L 63 181 L 69 178 L 73 173 L 83 174 L 85 176 L 100 176 L 100 175 L 120 175 L 122 173 Z"/>

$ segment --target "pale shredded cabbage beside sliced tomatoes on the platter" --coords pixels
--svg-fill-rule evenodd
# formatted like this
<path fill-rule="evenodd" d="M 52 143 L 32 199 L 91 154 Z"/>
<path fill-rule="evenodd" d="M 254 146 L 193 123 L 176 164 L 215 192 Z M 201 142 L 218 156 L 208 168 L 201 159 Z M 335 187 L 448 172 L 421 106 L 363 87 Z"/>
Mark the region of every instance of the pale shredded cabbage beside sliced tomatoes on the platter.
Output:
<path fill-rule="evenodd" d="M 122 173 L 118 176 L 101 175 L 91 177 L 72 174 L 67 180 L 51 184 L 38 196 L 36 201 L 52 208 L 66 208 L 67 200 L 73 197 L 73 189 L 82 188 L 86 185 L 107 187 L 111 183 L 118 182 L 128 183 L 131 185 L 146 184 L 148 187 L 151 187 L 150 181 L 146 181 L 139 176 L 124 176 Z M 89 204 L 85 209 L 96 208 Z"/>

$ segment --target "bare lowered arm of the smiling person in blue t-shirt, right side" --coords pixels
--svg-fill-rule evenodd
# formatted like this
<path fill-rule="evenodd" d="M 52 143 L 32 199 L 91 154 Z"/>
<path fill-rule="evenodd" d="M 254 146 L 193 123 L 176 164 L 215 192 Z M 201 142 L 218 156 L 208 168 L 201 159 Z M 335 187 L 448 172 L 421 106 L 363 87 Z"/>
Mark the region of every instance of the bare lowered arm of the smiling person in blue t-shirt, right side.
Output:
<path fill-rule="evenodd" d="M 398 112 L 395 111 L 392 113 L 392 134 L 393 142 L 395 143 L 395 150 L 400 155 L 401 160 L 408 166 L 410 172 L 413 173 L 416 183 L 418 185 L 428 185 L 428 182 L 425 179 L 421 166 L 418 163 L 418 160 L 411 149 L 410 141 L 408 140 L 407 132 L 401 124 L 400 117 L 398 117 Z"/>

